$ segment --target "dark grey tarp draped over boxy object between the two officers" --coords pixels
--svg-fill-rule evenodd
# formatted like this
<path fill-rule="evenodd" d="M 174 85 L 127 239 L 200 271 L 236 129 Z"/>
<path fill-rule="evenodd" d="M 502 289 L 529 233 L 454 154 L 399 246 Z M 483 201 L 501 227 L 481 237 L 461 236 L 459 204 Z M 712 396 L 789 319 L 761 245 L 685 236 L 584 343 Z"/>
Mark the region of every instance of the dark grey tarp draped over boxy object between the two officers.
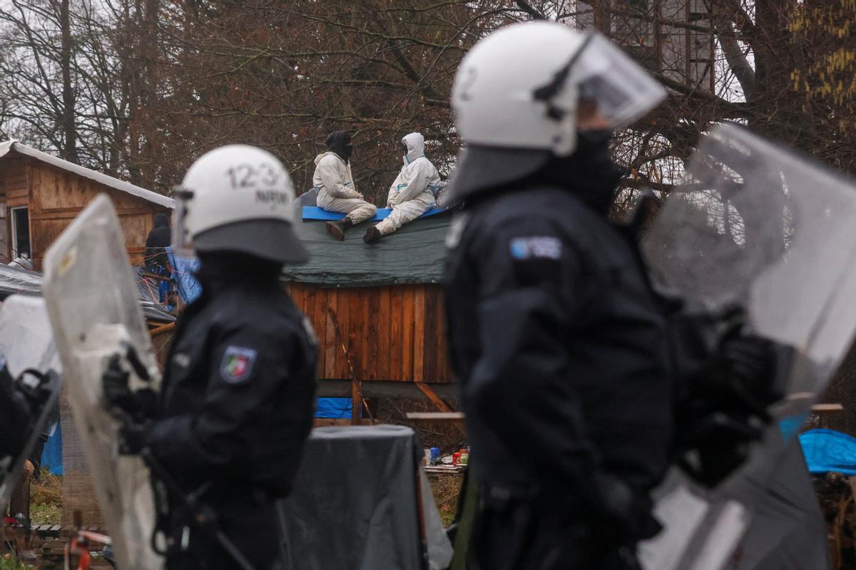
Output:
<path fill-rule="evenodd" d="M 419 438 L 405 426 L 312 430 L 294 491 L 282 502 L 287 569 L 425 568 L 416 484 L 421 455 Z M 445 567 L 450 547 L 443 536 L 437 540 L 443 532 L 427 497 L 428 549 L 434 557 L 448 550 Z"/>

